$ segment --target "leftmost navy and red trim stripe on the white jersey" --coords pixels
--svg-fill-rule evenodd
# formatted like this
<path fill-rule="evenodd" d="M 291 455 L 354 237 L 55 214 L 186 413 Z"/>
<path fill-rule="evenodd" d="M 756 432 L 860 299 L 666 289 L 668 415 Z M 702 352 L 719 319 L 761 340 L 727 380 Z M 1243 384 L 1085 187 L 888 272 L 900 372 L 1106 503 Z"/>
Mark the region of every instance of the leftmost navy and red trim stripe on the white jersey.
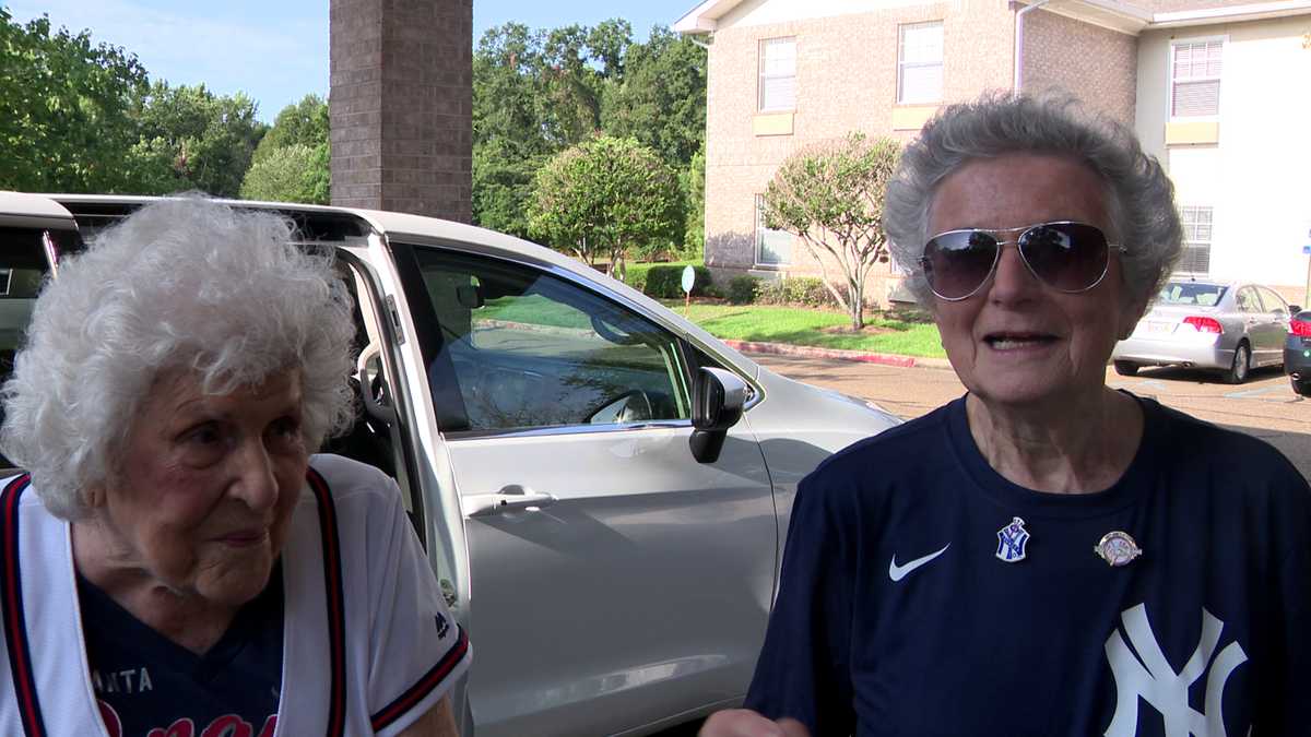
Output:
<path fill-rule="evenodd" d="M 18 498 L 31 476 L 24 473 L 10 481 L 0 494 L 4 530 L 0 548 L 4 549 L 4 568 L 0 569 L 0 589 L 4 595 L 4 637 L 9 648 L 9 670 L 18 691 L 18 713 L 28 737 L 45 737 L 46 723 L 41 716 L 37 698 L 37 679 L 31 673 L 31 650 L 28 648 L 28 623 L 22 612 L 22 577 L 18 567 Z"/>

